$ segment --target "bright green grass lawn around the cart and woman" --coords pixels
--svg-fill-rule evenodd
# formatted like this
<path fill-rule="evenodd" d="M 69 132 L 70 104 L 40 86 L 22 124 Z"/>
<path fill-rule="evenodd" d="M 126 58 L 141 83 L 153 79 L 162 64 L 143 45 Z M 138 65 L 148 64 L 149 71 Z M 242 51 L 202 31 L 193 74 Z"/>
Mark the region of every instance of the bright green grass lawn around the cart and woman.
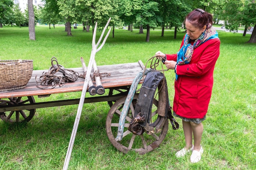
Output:
<path fill-rule="evenodd" d="M 48 69 L 51 58 L 65 68 L 81 67 L 80 57 L 88 64 L 92 49 L 92 31 L 81 26 L 66 36 L 63 26 L 49 29 L 36 26 L 36 41 L 29 40 L 28 28 L 4 26 L 0 29 L 0 60 L 34 60 L 34 70 Z M 138 34 L 115 29 L 96 54 L 98 65 L 137 62 L 144 64 L 156 51 L 176 53 L 184 33 L 173 39 L 173 31 L 150 30 Z M 99 38 L 100 32 L 97 33 Z M 105 121 L 107 102 L 84 104 L 77 130 L 70 170 L 252 170 L 256 167 L 256 44 L 246 44 L 250 35 L 219 31 L 220 57 L 214 71 L 214 86 L 207 119 L 203 122 L 204 153 L 199 163 L 189 156 L 177 159 L 184 147 L 180 119 L 179 130 L 169 125 L 166 138 L 152 152 L 123 154 L 108 140 Z M 174 73 L 165 72 L 170 101 L 173 100 Z M 61 93 L 36 102 L 79 98 L 81 92 Z M 27 124 L 0 122 L 0 170 L 62 169 L 78 105 L 40 108 Z"/>

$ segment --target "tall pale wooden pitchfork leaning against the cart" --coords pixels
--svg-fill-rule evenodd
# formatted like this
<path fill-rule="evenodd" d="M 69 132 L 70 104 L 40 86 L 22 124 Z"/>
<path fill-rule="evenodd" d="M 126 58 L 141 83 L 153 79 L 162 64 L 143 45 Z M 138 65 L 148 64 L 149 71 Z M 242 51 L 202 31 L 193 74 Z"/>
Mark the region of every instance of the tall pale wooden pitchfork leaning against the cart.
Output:
<path fill-rule="evenodd" d="M 112 28 L 110 26 L 110 29 L 108 30 L 108 33 L 107 33 L 106 37 L 104 38 L 103 42 L 101 43 L 101 46 L 99 46 L 99 44 L 101 42 L 101 39 L 102 39 L 102 37 L 103 37 L 107 27 L 108 27 L 108 24 L 109 24 L 110 20 L 111 20 L 111 18 L 108 19 L 108 22 L 107 22 L 106 26 L 104 27 L 104 29 L 101 33 L 101 37 L 99 38 L 99 41 L 97 42 L 97 44 L 95 44 L 96 31 L 97 31 L 97 22 L 95 24 L 95 28 L 94 28 L 94 32 L 93 32 L 93 36 L 92 36 L 92 52 L 91 52 L 90 61 L 89 61 L 89 64 L 88 64 L 88 69 L 87 69 L 87 72 L 86 72 L 86 75 L 85 75 L 85 81 L 84 81 L 84 84 L 83 84 L 83 90 L 82 90 L 82 94 L 81 94 L 81 97 L 80 97 L 80 101 L 79 101 L 79 105 L 78 105 L 78 109 L 77 109 L 77 113 L 76 113 L 76 119 L 75 119 L 75 122 L 74 122 L 72 134 L 71 134 L 71 137 L 70 137 L 70 143 L 69 143 L 69 146 L 67 148 L 67 155 L 66 155 L 65 162 L 64 162 L 64 165 L 63 165 L 63 170 L 67 170 L 67 167 L 68 167 L 68 164 L 69 164 L 69 161 L 70 161 L 71 152 L 72 152 L 72 148 L 73 148 L 73 145 L 74 145 L 74 140 L 75 140 L 75 137 L 76 137 L 76 131 L 77 131 L 77 128 L 78 128 L 78 125 L 79 125 L 79 120 L 80 120 L 80 117 L 81 117 L 83 103 L 84 103 L 84 100 L 85 100 L 85 93 L 86 93 L 87 88 L 88 88 L 88 82 L 89 82 L 89 79 L 90 79 L 90 74 L 91 74 L 91 71 L 92 71 L 92 65 L 93 65 L 93 62 L 94 62 L 94 59 L 95 59 L 95 55 L 98 51 L 101 50 L 101 48 L 105 44 L 105 42 L 108 38 L 108 35 L 110 34 L 110 30 Z M 99 46 L 99 48 L 98 48 L 98 46 Z"/>

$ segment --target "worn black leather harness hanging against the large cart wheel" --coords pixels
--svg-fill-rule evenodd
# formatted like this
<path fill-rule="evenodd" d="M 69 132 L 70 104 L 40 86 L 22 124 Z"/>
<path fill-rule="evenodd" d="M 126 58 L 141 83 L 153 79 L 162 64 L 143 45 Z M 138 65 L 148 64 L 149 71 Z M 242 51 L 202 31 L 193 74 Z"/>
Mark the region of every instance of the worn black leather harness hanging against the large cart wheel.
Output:
<path fill-rule="evenodd" d="M 170 119 L 174 130 L 179 128 L 179 124 L 175 121 L 171 113 L 165 76 L 162 72 L 153 70 L 146 75 L 144 82 L 142 83 L 137 104 L 135 106 L 135 114 L 128 127 L 128 130 L 135 135 L 141 135 L 146 127 L 150 126 L 151 109 L 157 88 L 157 114 L 160 117 Z M 155 127 L 156 125 L 154 124 L 153 126 Z"/>

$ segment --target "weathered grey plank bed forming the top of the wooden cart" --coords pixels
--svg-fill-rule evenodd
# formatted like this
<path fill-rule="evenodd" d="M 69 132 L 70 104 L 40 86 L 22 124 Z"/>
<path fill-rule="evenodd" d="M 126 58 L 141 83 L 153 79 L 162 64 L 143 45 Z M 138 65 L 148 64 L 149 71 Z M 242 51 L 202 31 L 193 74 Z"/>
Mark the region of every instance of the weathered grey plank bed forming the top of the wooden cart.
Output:
<path fill-rule="evenodd" d="M 129 86 L 132 84 L 133 79 L 136 75 L 144 69 L 144 65 L 141 61 L 135 63 L 126 63 L 126 64 L 113 64 L 113 65 L 105 65 L 98 66 L 100 73 L 110 73 L 110 76 L 102 77 L 101 83 L 104 88 L 117 88 L 121 86 Z M 83 74 L 83 68 L 68 68 L 74 70 L 80 74 Z M 83 89 L 83 78 L 78 78 L 75 82 L 67 82 L 62 87 L 58 85 L 51 89 L 40 89 L 36 87 L 36 75 L 39 78 L 43 72 L 48 72 L 48 70 L 34 70 L 29 80 L 27 86 L 25 88 L 12 90 L 12 91 L 4 91 L 0 92 L 1 98 L 8 97 L 22 97 L 22 96 L 35 96 L 35 95 L 49 95 L 49 94 L 57 94 L 57 93 L 68 93 L 75 91 L 82 91 Z M 93 77 L 93 71 L 91 71 L 91 76 Z M 93 81 L 95 85 L 95 82 Z M 45 87 L 45 86 L 44 86 Z"/>

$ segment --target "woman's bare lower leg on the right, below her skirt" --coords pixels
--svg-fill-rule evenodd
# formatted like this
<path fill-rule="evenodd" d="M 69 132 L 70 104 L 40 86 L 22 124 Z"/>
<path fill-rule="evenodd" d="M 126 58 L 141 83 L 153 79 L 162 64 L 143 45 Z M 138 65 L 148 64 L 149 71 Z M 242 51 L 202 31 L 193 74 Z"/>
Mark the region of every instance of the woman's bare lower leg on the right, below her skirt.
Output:
<path fill-rule="evenodd" d="M 189 122 L 193 131 L 193 136 L 194 136 L 194 150 L 199 151 L 201 148 L 201 139 L 202 139 L 202 134 L 204 130 L 204 126 L 202 123 L 200 124 L 195 124 L 193 122 Z"/>

